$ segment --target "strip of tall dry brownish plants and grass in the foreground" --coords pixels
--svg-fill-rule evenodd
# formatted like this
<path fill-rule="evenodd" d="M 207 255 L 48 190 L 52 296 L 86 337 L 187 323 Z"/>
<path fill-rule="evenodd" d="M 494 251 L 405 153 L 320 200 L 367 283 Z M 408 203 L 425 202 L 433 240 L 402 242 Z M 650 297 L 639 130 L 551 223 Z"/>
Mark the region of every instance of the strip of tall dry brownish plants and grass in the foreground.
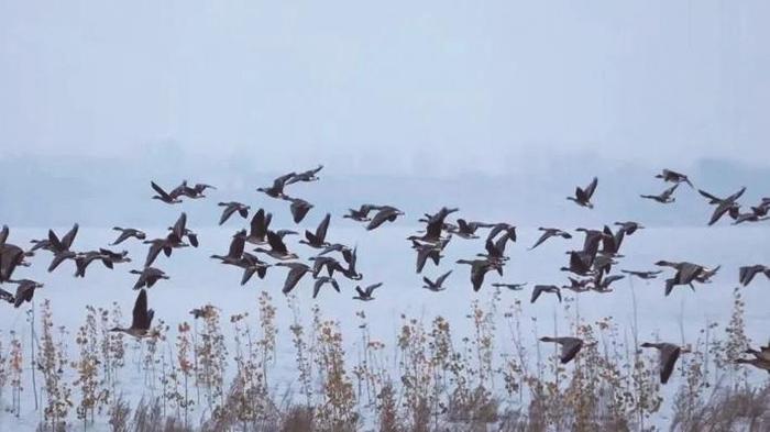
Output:
<path fill-rule="evenodd" d="M 675 395 L 664 400 L 657 356 L 639 351 L 636 325 L 629 334 L 610 318 L 585 322 L 576 301 L 565 302 L 563 317 L 584 346 L 562 365 L 558 347 L 528 342 L 541 335 L 542 323 L 532 320 L 532 334 L 522 334 L 521 304 L 501 311 L 498 293 L 488 304 L 471 304 L 466 335 L 441 317 L 404 315 L 392 344 L 372 339 L 363 312 L 358 337 L 346 339 L 352 335 L 318 308 L 304 323 L 289 298 L 296 381 L 277 398 L 275 389 L 286 385 L 271 381 L 279 329 L 263 292 L 255 318 L 230 317 L 231 340 L 216 308 L 174 331 L 158 322 L 158 335 L 134 348 L 134 377 L 143 374 L 146 384 L 135 407 L 117 392 L 131 373 L 129 342 L 106 331 L 122 319 L 120 310 L 87 308 L 75 334 L 77 356 L 69 361 L 68 333 L 55 328 L 44 303 L 38 429 L 88 430 L 101 422 L 112 431 L 650 431 L 668 423 L 688 432 L 767 431 L 770 383 L 752 384 L 754 375 L 733 362 L 751 342 L 738 290 L 734 300 L 724 329 L 707 323 L 689 341 L 692 353 L 681 357 L 670 384 L 678 386 Z M 501 331 L 510 342 L 506 350 L 495 343 Z M 10 384 L 10 411 L 16 413 L 25 353 L 15 334 L 7 341 L 0 389 Z M 353 353 L 345 351 L 350 346 Z M 663 409 L 672 412 L 669 421 L 659 417 Z"/>

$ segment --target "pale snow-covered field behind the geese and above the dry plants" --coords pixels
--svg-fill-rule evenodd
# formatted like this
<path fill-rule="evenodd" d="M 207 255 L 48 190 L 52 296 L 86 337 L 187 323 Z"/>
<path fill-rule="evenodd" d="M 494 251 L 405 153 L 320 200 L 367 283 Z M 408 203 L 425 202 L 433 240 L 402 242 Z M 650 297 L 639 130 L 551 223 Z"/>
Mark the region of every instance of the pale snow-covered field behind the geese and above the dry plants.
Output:
<path fill-rule="evenodd" d="M 311 215 L 314 213 L 310 213 Z M 318 215 L 318 214 L 316 214 Z M 308 218 L 314 220 L 312 218 Z M 194 224 L 195 221 L 193 221 Z M 582 235 L 575 235 L 570 241 L 552 239 L 535 251 L 527 251 L 537 239 L 534 229 L 521 228 L 518 230 L 518 242 L 508 246 L 510 262 L 505 268 L 505 277 L 498 278 L 490 274 L 484 288 L 480 292 L 471 289 L 468 266 L 454 264 L 461 257 L 471 257 L 483 250 L 482 241 L 466 241 L 453 239 L 446 250 L 446 257 L 439 268 L 428 264 L 424 275 L 431 278 L 441 273 L 454 268 L 454 273 L 447 281 L 448 289 L 436 293 L 421 289 L 421 276 L 415 274 L 415 256 L 409 248 L 406 236 L 417 230 L 409 226 L 409 222 L 398 221 L 386 224 L 374 232 L 365 232 L 361 226 L 341 225 L 339 219 L 333 219 L 329 232 L 332 242 L 358 244 L 359 270 L 363 273 L 362 285 L 383 281 L 384 286 L 375 292 L 376 300 L 359 302 L 352 300 L 355 284 L 339 277 L 342 293 L 323 290 L 317 301 L 311 299 L 311 279 L 306 277 L 296 288 L 297 306 L 302 320 L 307 324 L 311 319 L 311 307 L 318 304 L 324 318 L 338 320 L 345 339 L 345 347 L 350 362 L 354 362 L 361 352 L 360 320 L 356 311 L 364 311 L 373 340 L 381 341 L 387 347 L 393 348 L 396 335 L 399 331 L 400 315 L 422 319 L 429 323 L 436 315 L 444 317 L 452 325 L 453 335 L 472 336 L 472 321 L 468 318 L 470 304 L 474 299 L 480 299 L 481 304 L 488 303 L 493 288 L 491 283 L 504 280 L 510 283 L 527 281 L 529 285 L 522 291 L 503 291 L 498 310 L 505 311 L 515 300 L 521 300 L 525 319 L 521 320 L 521 333 L 526 342 L 536 345 L 536 334 L 532 324 L 536 323 L 539 335 L 560 334 L 571 332 L 569 314 L 564 312 L 563 304 L 559 304 L 556 297 L 543 296 L 537 303 L 529 303 L 531 286 L 535 284 L 565 283 L 566 275 L 558 268 L 566 263 L 564 251 L 580 248 Z M 273 303 L 277 307 L 276 323 L 278 329 L 276 362 L 272 367 L 271 383 L 276 395 L 283 394 L 287 388 L 297 390 L 297 367 L 295 364 L 295 350 L 290 343 L 289 325 L 293 313 L 280 293 L 283 280 L 286 275 L 284 268 L 271 268 L 264 280 L 254 278 L 245 287 L 239 285 L 241 273 L 239 269 L 223 266 L 210 259 L 212 253 L 227 251 L 231 234 L 237 230 L 239 222 L 230 221 L 227 228 L 196 228 L 201 245 L 199 248 L 176 250 L 170 258 L 161 256 L 155 265 L 163 268 L 170 280 L 162 280 L 150 289 L 150 307 L 155 310 L 155 320 L 164 320 L 172 329 L 168 337 L 168 346 L 173 346 L 173 335 L 177 324 L 188 321 L 191 315 L 188 311 L 205 303 L 217 306 L 223 317 L 223 331 L 229 332 L 228 318 L 235 313 L 250 312 L 256 315 L 257 296 L 261 291 L 267 291 L 273 297 Z M 28 244 L 30 239 L 45 236 L 47 229 L 13 229 L 10 241 L 15 244 Z M 148 230 L 150 237 L 161 235 L 162 231 Z M 75 242 L 77 250 L 90 250 L 105 246 L 113 240 L 113 232 L 106 228 L 81 228 Z M 301 258 L 311 256 L 312 250 L 296 244 L 298 237 L 292 237 L 289 248 L 299 253 Z M 733 289 L 737 286 L 738 267 L 750 264 L 770 263 L 770 252 L 767 244 L 770 242 L 770 230 L 766 226 L 724 226 L 724 228 L 650 228 L 631 236 L 627 236 L 622 253 L 625 255 L 620 265 L 614 268 L 617 273 L 624 269 L 654 269 L 653 262 L 658 259 L 690 261 L 706 266 L 722 265 L 722 270 L 713 279 L 713 284 L 697 286 L 696 292 L 684 287 L 674 289 L 670 297 L 663 296 L 663 278 L 649 283 L 634 280 L 632 288 L 636 295 L 638 313 L 638 333 L 640 339 L 653 339 L 653 334 L 662 341 L 674 343 L 694 343 L 698 332 L 707 323 L 716 322 L 721 325 L 715 332 L 723 331 L 730 318 L 733 307 Z M 37 306 L 44 299 L 50 299 L 54 323 L 64 325 L 74 339 L 74 334 L 82 324 L 86 314 L 85 307 L 111 308 L 112 302 L 118 302 L 123 310 L 125 324 L 130 317 L 136 292 L 131 290 L 134 283 L 133 275 L 128 272 L 131 268 L 140 268 L 144 259 L 145 246 L 136 242 L 125 242 L 134 263 L 119 264 L 114 270 L 109 270 L 95 263 L 88 268 L 85 279 L 74 278 L 74 265 L 72 262 L 63 264 L 55 273 L 45 273 L 50 263 L 47 252 L 38 252 L 31 258 L 33 265 L 30 268 L 20 268 L 15 275 L 29 277 L 45 283 L 45 288 L 35 295 Z M 120 246 L 123 246 L 121 244 Z M 117 247 L 120 248 L 120 247 Z M 136 264 L 136 265 L 133 265 Z M 631 283 L 628 279 L 614 285 L 614 292 L 598 295 L 594 292 L 580 296 L 579 303 L 571 307 L 571 313 L 579 309 L 580 315 L 586 322 L 594 322 L 604 317 L 613 317 L 620 324 L 620 334 L 630 337 L 634 322 Z M 324 287 L 329 288 L 329 287 Z M 746 301 L 746 332 L 757 343 L 766 343 L 770 339 L 770 310 L 768 309 L 768 296 L 770 281 L 758 277 L 755 283 L 741 288 Z M 565 298 L 573 298 L 574 293 L 564 291 Z M 2 308 L 0 314 L 0 329 L 3 334 L 3 355 L 8 354 L 8 334 L 15 331 L 21 335 L 22 346 L 26 350 L 30 345 L 30 326 L 28 322 L 28 306 L 20 309 Z M 504 324 L 502 313 L 498 314 L 499 325 L 496 332 L 495 362 L 502 362 L 504 354 L 513 354 L 509 329 Z M 531 318 L 531 319 L 530 319 Z M 556 328 L 554 328 L 556 326 Z M 228 344 L 232 344 L 232 334 L 226 333 Z M 684 341 L 682 341 L 684 337 Z M 68 342 L 75 357 L 75 344 Z M 388 352 L 388 350 L 385 350 Z M 129 350 L 129 358 L 136 354 Z M 529 351 L 535 353 L 535 350 Z M 548 346 L 547 353 L 551 352 Z M 652 356 L 653 353 L 647 353 Z M 142 397 L 157 396 L 157 388 L 146 386 L 143 373 L 136 370 L 131 361 L 121 372 L 120 391 L 130 401 L 138 401 Z M 394 363 L 395 365 L 395 359 Z M 0 430 L 33 430 L 42 414 L 34 411 L 32 386 L 29 374 L 29 363 L 25 358 L 23 376 L 23 394 L 21 400 L 22 414 L 20 419 L 9 412 L 0 414 Z M 232 366 L 232 362 L 231 362 Z M 569 366 L 568 366 L 569 370 Z M 680 373 L 674 377 L 663 391 L 663 396 L 671 398 L 675 387 L 680 385 Z M 752 383 L 761 383 L 767 374 L 751 372 L 749 378 Z M 74 380 L 75 377 L 73 376 Z M 42 378 L 37 376 L 40 387 Z M 38 389 L 40 390 L 40 389 Z M 77 391 L 74 398 L 77 399 Z M 10 389 L 6 385 L 2 395 L 3 406 L 10 403 Z M 666 402 L 664 402 L 666 403 Z M 658 424 L 666 424 L 670 416 L 670 407 L 664 407 L 657 414 Z M 107 429 L 102 421 L 95 430 Z"/>

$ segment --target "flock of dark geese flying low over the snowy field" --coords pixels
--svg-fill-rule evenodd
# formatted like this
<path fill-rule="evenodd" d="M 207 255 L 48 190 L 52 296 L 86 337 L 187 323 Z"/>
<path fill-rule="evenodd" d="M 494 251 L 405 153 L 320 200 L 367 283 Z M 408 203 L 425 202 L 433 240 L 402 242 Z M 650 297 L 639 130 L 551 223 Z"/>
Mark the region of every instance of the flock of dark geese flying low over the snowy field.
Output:
<path fill-rule="evenodd" d="M 289 202 L 289 210 L 293 221 L 300 223 L 308 212 L 314 208 L 310 202 L 293 198 L 286 193 L 286 188 L 289 185 L 297 182 L 311 182 L 319 179 L 318 173 L 322 166 L 302 173 L 289 173 L 276 178 L 271 186 L 256 189 L 265 193 L 267 197 L 285 200 Z M 641 195 L 644 199 L 650 199 L 656 202 L 668 204 L 675 200 L 674 193 L 681 184 L 686 184 L 694 189 L 693 184 L 686 175 L 664 169 L 656 176 L 664 182 L 672 184 L 660 195 Z M 566 199 L 574 201 L 578 206 L 593 209 L 592 199 L 598 185 L 597 178 L 588 184 L 587 187 L 575 188 L 574 196 Z M 170 191 L 164 190 L 154 181 L 151 182 L 155 196 L 153 199 L 160 200 L 166 204 L 176 204 L 183 202 L 183 199 L 201 199 L 205 198 L 205 192 L 208 189 L 216 187 L 206 184 L 196 184 L 190 186 L 187 181 L 183 181 Z M 734 224 L 745 222 L 758 222 L 767 220 L 770 217 L 770 198 L 763 198 L 757 206 L 749 207 L 749 211 L 741 212 L 741 206 L 738 199 L 746 191 L 741 188 L 737 192 L 719 198 L 704 190 L 697 190 L 710 204 L 714 206 L 714 211 L 708 221 L 713 225 L 724 215 L 733 219 Z M 251 208 L 244 203 L 237 201 L 219 202 L 222 208 L 222 214 L 219 224 L 222 225 L 231 218 L 238 215 L 242 219 L 248 219 Z M 471 284 L 474 291 L 479 291 L 483 284 L 485 275 L 490 272 L 496 272 L 499 276 L 504 275 L 504 267 L 508 262 L 506 256 L 506 246 L 508 243 L 515 243 L 516 226 L 506 222 L 480 222 L 468 221 L 465 219 L 457 219 L 454 222 L 449 222 L 450 214 L 458 212 L 457 208 L 442 208 L 435 214 L 425 214 L 419 219 L 425 223 L 424 231 L 407 237 L 411 242 L 411 247 L 416 253 L 416 270 L 420 274 L 426 266 L 428 259 L 439 265 L 443 257 L 442 252 L 454 237 L 463 240 L 480 239 L 480 233 L 486 230 L 484 236 L 484 252 L 480 252 L 475 257 L 470 259 L 459 259 L 458 264 L 470 266 Z M 394 222 L 397 218 L 403 217 L 404 212 L 393 206 L 386 204 L 363 204 L 358 209 L 349 209 L 348 214 L 343 218 L 365 224 L 367 231 L 383 226 L 386 222 Z M 211 255 L 211 258 L 218 259 L 223 265 L 237 267 L 243 272 L 241 285 L 245 285 L 256 275 L 258 278 L 264 278 L 267 269 L 271 267 L 285 267 L 288 269 L 286 279 L 283 286 L 283 292 L 290 292 L 298 283 L 306 276 L 310 275 L 314 279 L 312 297 L 316 298 L 324 286 L 330 286 L 336 291 L 340 292 L 340 284 L 336 275 L 351 280 L 361 280 L 363 275 L 356 270 L 356 247 L 350 247 L 341 243 L 331 243 L 327 240 L 331 214 L 327 213 L 318 224 L 315 232 L 306 231 L 305 239 L 299 243 L 317 250 L 316 256 L 309 258 L 308 262 L 298 259 L 298 255 L 289 251 L 285 243 L 285 237 L 288 235 L 298 235 L 292 230 L 274 230 L 271 228 L 272 214 L 266 213 L 264 209 L 253 213 L 251 223 L 248 229 L 240 230 L 234 233 L 230 247 L 226 255 Z M 626 236 L 630 236 L 642 230 L 644 226 L 634 221 L 615 222 L 615 229 L 604 225 L 602 229 L 583 229 L 575 230 L 584 235 L 583 247 L 578 251 L 569 251 L 568 264 L 561 270 L 570 274 L 569 285 L 535 285 L 531 291 L 530 301 L 535 302 L 542 295 L 553 295 L 559 301 L 562 299 L 562 290 L 574 292 L 596 291 L 610 292 L 612 284 L 628 277 L 637 277 L 641 279 L 654 279 L 663 270 L 627 270 L 622 269 L 620 274 L 610 274 L 613 266 L 618 264 L 620 246 Z M 145 288 L 153 287 L 162 279 L 169 277 L 160 268 L 154 267 L 154 263 L 161 253 L 170 256 L 174 250 L 193 246 L 198 246 L 198 235 L 187 226 L 187 215 L 182 213 L 173 226 L 168 228 L 168 234 L 165 237 L 147 240 L 146 234 L 133 228 L 116 226 L 118 237 L 110 246 L 121 244 L 131 239 L 142 241 L 147 244 L 147 255 L 144 259 L 142 269 L 132 269 L 131 274 L 138 275 L 136 283 L 133 288 L 139 289 L 139 295 L 133 308 L 133 320 L 129 328 L 114 328 L 112 331 L 128 333 L 135 337 L 152 336 L 151 324 L 154 312 L 147 307 L 147 293 Z M 539 228 L 542 233 L 535 244 L 529 247 L 534 250 L 550 239 L 571 239 L 573 234 L 558 228 Z M 116 252 L 109 248 L 99 248 L 98 251 L 76 252 L 73 250 L 73 243 L 77 236 L 78 225 L 65 235 L 59 237 L 53 230 L 48 231 L 47 239 L 33 240 L 32 247 L 28 251 L 24 248 L 8 243 L 9 229 L 3 226 L 0 232 L 0 284 L 15 284 L 15 293 L 11 293 L 0 288 L 0 299 L 6 300 L 14 307 L 19 308 L 25 301 L 31 301 L 37 288 L 43 287 L 43 284 L 31 279 L 13 279 L 14 270 L 20 266 L 29 266 L 26 258 L 32 256 L 36 251 L 48 251 L 53 259 L 48 266 L 48 272 L 55 270 L 64 262 L 72 261 L 75 263 L 76 277 L 85 277 L 86 269 L 94 262 L 101 262 L 106 267 L 113 268 L 116 264 L 130 263 L 131 258 L 127 251 Z M 246 244 L 256 245 L 252 252 L 246 251 Z M 263 247 L 267 246 L 267 247 Z M 261 259 L 270 257 L 274 261 L 273 264 Z M 659 267 L 670 267 L 673 274 L 666 280 L 664 293 L 668 296 L 674 287 L 689 286 L 695 289 L 694 284 L 707 284 L 712 277 L 719 270 L 719 266 L 714 268 L 704 265 L 689 262 L 668 262 L 660 261 L 656 263 Z M 447 278 L 452 274 L 452 270 L 442 274 L 435 280 L 424 277 L 424 288 L 430 291 L 442 291 Z M 750 284 L 755 276 L 763 274 L 770 278 L 770 268 L 763 265 L 745 266 L 739 269 L 739 283 L 744 286 Z M 356 300 L 370 301 L 373 300 L 374 291 L 383 284 L 372 284 L 365 287 L 356 286 Z M 507 288 L 512 290 L 521 290 L 525 284 L 492 284 L 495 287 Z M 194 309 L 190 313 L 195 318 L 206 315 L 207 309 Z M 542 337 L 543 342 L 553 342 L 561 345 L 561 362 L 569 363 L 584 346 L 584 342 L 579 337 Z M 653 347 L 660 352 L 660 378 L 661 383 L 666 384 L 671 376 L 675 362 L 680 354 L 688 352 L 686 347 L 679 346 L 673 343 L 642 343 L 642 347 Z M 736 363 L 749 364 L 755 367 L 770 372 L 770 344 L 760 347 L 760 350 L 749 348 L 747 354 L 749 358 L 737 358 Z"/>

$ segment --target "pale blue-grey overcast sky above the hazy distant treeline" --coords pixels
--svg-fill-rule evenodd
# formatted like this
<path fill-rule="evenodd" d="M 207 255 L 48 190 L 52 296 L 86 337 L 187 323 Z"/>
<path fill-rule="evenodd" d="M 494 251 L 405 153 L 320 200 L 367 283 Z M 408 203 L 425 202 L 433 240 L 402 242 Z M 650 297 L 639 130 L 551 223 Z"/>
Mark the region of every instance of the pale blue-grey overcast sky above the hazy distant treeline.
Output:
<path fill-rule="evenodd" d="M 770 2 L 630 3 L 0 0 L 0 157 L 770 164 Z"/>

